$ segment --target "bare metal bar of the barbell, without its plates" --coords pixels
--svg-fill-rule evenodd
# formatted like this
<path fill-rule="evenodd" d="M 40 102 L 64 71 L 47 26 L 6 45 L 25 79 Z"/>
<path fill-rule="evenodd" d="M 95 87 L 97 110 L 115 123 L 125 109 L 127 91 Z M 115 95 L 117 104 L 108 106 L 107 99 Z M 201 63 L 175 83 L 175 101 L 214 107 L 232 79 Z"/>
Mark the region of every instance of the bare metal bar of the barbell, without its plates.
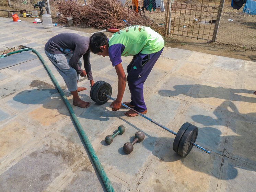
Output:
<path fill-rule="evenodd" d="M 108 97 L 108 98 L 111 99 L 111 100 L 116 100 L 116 99 L 114 99 L 113 97 L 107 95 L 106 93 L 103 93 L 103 95 L 105 95 L 106 97 Z M 136 113 L 137 113 L 138 115 L 140 115 L 141 117 L 144 117 L 145 119 L 151 121 L 152 123 L 154 123 L 154 124 L 158 125 L 159 127 L 165 129 L 166 131 L 168 131 L 168 132 L 170 132 L 170 133 L 172 133 L 172 134 L 174 134 L 174 135 L 177 135 L 176 132 L 174 132 L 174 131 L 172 131 L 171 129 L 168 129 L 167 127 L 165 127 L 164 125 L 161 125 L 160 123 L 158 123 L 158 122 L 156 122 L 156 121 L 154 121 L 154 120 L 148 118 L 147 116 L 145 116 L 145 115 L 141 114 L 140 112 L 138 112 L 138 111 L 136 111 L 136 110 L 130 108 L 129 106 L 127 106 L 127 105 L 125 105 L 125 104 L 123 104 L 123 103 L 121 103 L 121 105 L 124 106 L 124 107 L 126 107 L 127 109 L 130 109 L 130 110 L 136 112 Z M 211 153 L 211 152 L 210 152 L 209 150 L 207 150 L 206 148 L 203 148 L 203 147 L 201 147 L 200 145 L 198 145 L 198 144 L 196 144 L 196 143 L 194 143 L 194 142 L 192 142 L 192 141 L 190 141 L 190 143 L 191 143 L 192 145 L 194 145 L 195 147 L 201 149 L 202 151 L 208 153 L 208 154 Z M 190 150 L 191 150 L 191 149 L 190 149 Z"/>

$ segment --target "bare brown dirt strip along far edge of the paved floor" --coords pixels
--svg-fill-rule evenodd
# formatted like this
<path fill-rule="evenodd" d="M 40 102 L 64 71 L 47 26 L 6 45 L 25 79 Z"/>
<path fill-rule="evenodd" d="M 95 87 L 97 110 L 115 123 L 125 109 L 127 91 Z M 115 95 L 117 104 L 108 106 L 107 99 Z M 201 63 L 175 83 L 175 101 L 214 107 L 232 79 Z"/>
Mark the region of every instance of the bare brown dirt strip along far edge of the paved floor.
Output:
<path fill-rule="evenodd" d="M 0 7 L 0 10 L 10 10 L 8 7 Z M 19 12 L 17 12 L 19 14 Z M 7 17 L 7 11 L 0 11 L 1 17 Z M 10 19 L 12 19 L 10 17 Z M 22 21 L 29 21 L 33 22 L 35 18 L 33 17 L 20 17 Z M 42 18 L 39 17 L 39 19 Z M 102 29 L 97 28 L 88 28 L 82 25 L 67 27 L 65 23 L 59 23 L 57 18 L 53 19 L 53 23 L 57 23 L 58 27 L 65 27 L 68 29 L 82 31 L 86 33 L 94 33 L 97 31 L 102 31 Z M 39 24 L 38 24 L 39 25 Z M 111 36 L 113 33 L 104 32 L 107 36 Z M 224 56 L 224 57 L 231 57 L 236 59 L 243 59 L 248 61 L 256 61 L 256 52 L 253 49 L 248 49 L 246 47 L 239 47 L 239 46 L 232 46 L 227 44 L 217 44 L 214 42 L 207 43 L 203 40 L 194 40 L 190 38 L 180 38 L 175 36 L 167 36 L 165 39 L 165 43 L 167 47 L 174 47 L 179 49 L 187 49 L 191 51 L 198 51 L 203 53 L 208 53 L 212 55 Z"/>

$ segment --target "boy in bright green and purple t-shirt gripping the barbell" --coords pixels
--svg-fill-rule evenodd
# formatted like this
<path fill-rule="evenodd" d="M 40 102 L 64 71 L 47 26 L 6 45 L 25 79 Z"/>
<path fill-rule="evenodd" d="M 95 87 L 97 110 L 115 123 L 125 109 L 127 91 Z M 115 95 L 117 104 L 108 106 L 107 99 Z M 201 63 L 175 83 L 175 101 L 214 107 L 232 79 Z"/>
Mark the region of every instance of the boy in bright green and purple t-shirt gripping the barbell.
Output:
<path fill-rule="evenodd" d="M 109 56 L 113 67 L 116 69 L 118 93 L 116 100 L 110 105 L 110 107 L 113 106 L 112 110 L 120 109 L 127 80 L 131 101 L 124 104 L 142 114 L 147 113 L 143 98 L 143 85 L 163 51 L 164 40 L 162 36 L 150 27 L 136 25 L 121 29 L 110 39 L 102 32 L 94 33 L 90 37 L 89 47 L 94 54 L 103 57 Z M 121 56 L 133 56 L 127 66 L 127 78 L 121 64 Z M 129 110 L 125 112 L 125 115 L 135 117 L 138 114 Z"/>

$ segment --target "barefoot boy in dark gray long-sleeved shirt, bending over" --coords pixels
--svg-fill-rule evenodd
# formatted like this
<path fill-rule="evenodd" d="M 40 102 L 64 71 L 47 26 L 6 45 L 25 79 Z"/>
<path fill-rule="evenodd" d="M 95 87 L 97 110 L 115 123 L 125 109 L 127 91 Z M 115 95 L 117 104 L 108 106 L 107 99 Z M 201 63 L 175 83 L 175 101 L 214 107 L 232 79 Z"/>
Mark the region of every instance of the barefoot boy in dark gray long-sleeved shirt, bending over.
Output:
<path fill-rule="evenodd" d="M 79 76 L 87 75 L 93 86 L 93 76 L 90 63 L 89 37 L 83 37 L 75 33 L 61 33 L 48 40 L 45 45 L 45 54 L 54 64 L 60 75 L 63 77 L 68 90 L 73 95 L 73 105 L 86 108 L 90 106 L 78 96 L 79 91 L 85 87 L 78 87 Z M 81 69 L 84 60 L 84 69 Z"/>

